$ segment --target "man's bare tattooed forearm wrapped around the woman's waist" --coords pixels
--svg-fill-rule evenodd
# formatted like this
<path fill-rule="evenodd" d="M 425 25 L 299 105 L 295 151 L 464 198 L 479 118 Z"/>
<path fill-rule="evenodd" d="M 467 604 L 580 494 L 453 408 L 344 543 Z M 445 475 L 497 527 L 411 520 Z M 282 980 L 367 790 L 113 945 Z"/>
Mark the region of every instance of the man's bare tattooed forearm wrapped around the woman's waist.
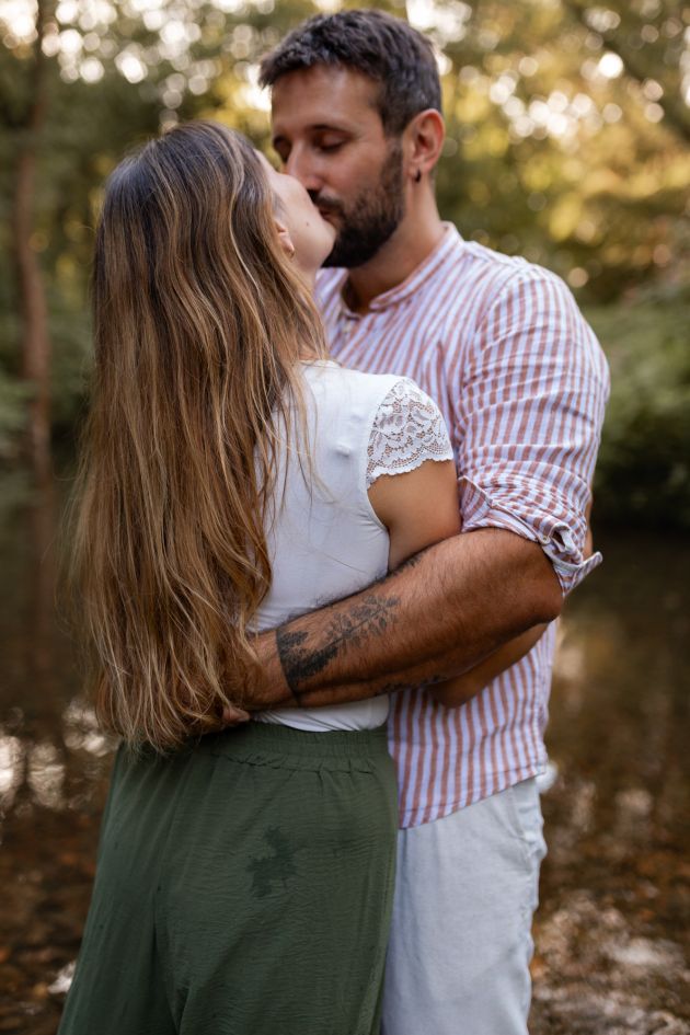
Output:
<path fill-rule="evenodd" d="M 263 634 L 250 709 L 361 700 L 467 671 L 557 616 L 540 547 L 483 529 L 446 540 L 361 593 Z"/>

